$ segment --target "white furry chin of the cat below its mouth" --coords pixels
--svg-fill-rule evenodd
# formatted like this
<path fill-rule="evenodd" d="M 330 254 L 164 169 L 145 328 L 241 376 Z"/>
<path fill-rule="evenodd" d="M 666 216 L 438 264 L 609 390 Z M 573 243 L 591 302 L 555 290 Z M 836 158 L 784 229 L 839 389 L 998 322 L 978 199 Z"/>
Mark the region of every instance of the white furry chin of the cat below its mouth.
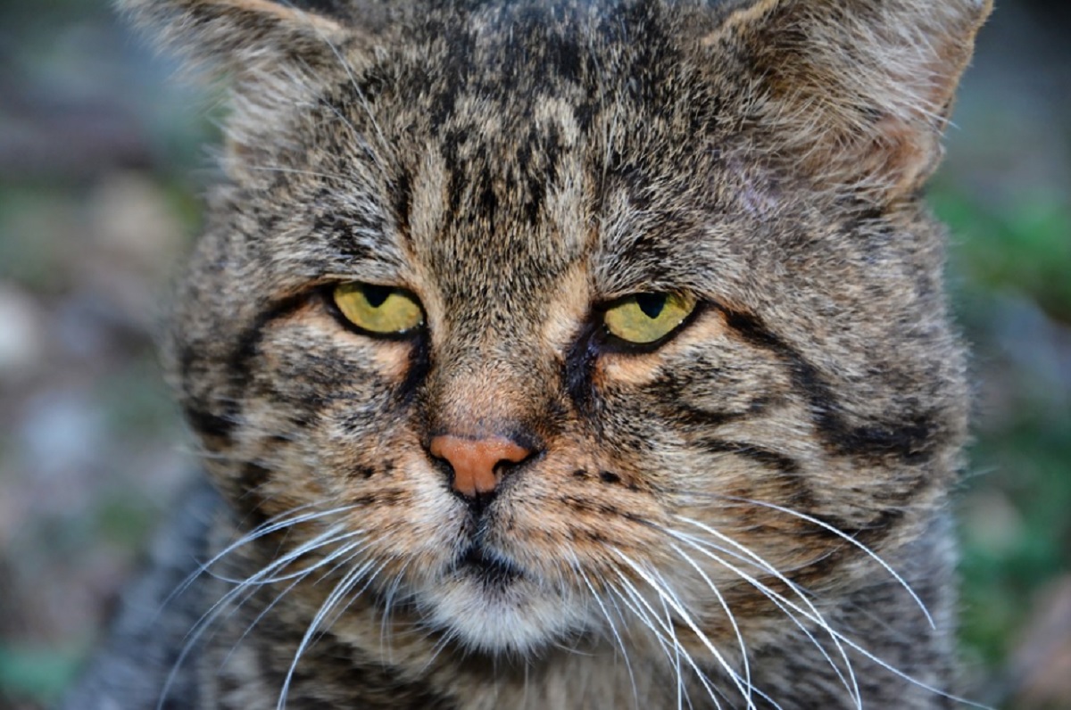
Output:
<path fill-rule="evenodd" d="M 481 653 L 530 656 L 589 625 L 577 600 L 499 561 L 463 563 L 422 596 L 431 625 Z"/>

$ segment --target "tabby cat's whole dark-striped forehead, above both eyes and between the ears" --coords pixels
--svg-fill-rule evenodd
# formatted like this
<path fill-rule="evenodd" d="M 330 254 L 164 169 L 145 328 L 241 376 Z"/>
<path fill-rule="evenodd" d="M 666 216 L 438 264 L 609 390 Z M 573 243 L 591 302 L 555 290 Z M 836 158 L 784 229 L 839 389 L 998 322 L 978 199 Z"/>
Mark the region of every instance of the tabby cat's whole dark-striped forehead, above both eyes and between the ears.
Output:
<path fill-rule="evenodd" d="M 739 197 L 766 193 L 722 158 L 719 88 L 674 12 L 454 7 L 371 59 L 340 47 L 292 142 L 274 139 L 295 152 L 257 158 L 293 166 L 299 199 L 273 203 L 316 211 L 314 238 L 263 248 L 304 255 L 313 277 L 441 294 L 450 313 L 534 317 L 578 285 L 585 304 L 708 292 L 743 271 L 745 230 L 726 226 Z M 295 222 L 284 233 L 310 220 Z"/>

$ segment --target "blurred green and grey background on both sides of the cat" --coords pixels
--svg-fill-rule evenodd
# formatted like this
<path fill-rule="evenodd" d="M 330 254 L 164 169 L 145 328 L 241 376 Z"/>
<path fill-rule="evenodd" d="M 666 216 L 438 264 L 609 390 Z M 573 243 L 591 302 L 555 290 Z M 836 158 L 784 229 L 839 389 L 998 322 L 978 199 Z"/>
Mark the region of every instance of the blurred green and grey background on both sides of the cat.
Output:
<path fill-rule="evenodd" d="M 153 349 L 213 100 L 104 0 L 0 0 L 0 710 L 47 707 L 190 471 Z M 1071 708 L 1071 3 L 1001 3 L 931 201 L 974 344 L 975 697 Z"/>

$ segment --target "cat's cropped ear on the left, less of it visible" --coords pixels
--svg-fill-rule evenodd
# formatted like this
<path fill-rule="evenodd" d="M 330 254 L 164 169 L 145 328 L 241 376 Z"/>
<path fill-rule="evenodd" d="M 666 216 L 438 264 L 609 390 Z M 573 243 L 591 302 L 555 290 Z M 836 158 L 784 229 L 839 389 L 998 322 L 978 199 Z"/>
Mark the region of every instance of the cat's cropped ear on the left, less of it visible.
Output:
<path fill-rule="evenodd" d="M 194 65 L 239 82 L 337 65 L 353 31 L 269 0 L 117 0 L 121 11 Z"/>

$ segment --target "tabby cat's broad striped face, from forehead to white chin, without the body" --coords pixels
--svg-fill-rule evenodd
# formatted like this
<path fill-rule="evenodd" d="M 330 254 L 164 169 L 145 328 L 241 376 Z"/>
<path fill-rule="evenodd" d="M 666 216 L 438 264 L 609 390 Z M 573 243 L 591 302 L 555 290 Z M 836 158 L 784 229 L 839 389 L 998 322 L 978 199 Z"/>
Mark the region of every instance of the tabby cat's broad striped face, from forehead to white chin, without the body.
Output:
<path fill-rule="evenodd" d="M 962 358 L 915 191 L 980 6 L 931 18 L 939 57 L 893 95 L 910 57 L 842 37 L 890 78 L 779 32 L 840 36 L 808 3 L 379 34 L 174 4 L 307 44 L 239 72 L 169 350 L 214 478 L 246 520 L 307 514 L 282 550 L 338 568 L 338 608 L 489 652 L 672 608 L 694 647 L 788 580 L 880 570 L 864 547 L 940 500 Z"/>

